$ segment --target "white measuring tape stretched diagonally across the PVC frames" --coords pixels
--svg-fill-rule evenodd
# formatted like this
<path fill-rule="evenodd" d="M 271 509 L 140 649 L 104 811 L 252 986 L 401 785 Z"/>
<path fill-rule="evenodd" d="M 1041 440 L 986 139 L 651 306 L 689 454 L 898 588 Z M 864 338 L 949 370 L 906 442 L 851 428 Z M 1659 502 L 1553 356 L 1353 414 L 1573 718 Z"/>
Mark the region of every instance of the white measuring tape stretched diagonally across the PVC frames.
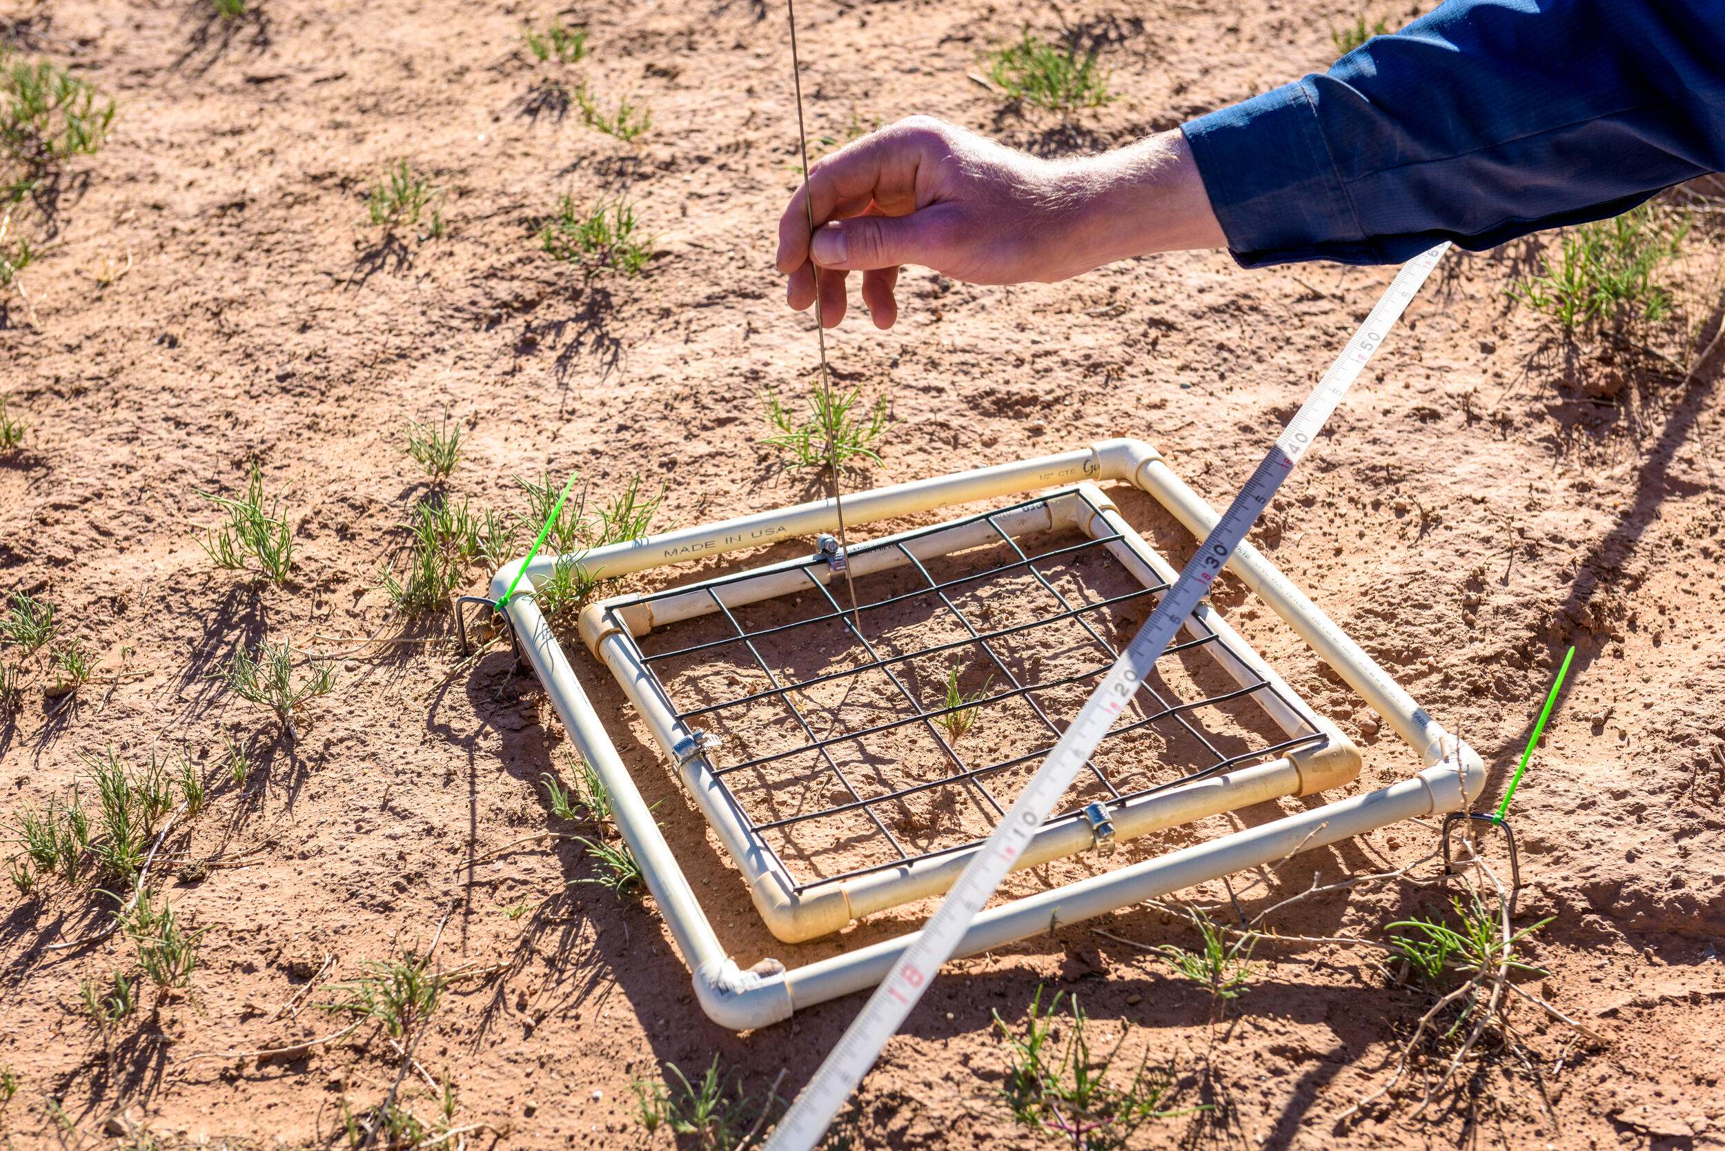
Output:
<path fill-rule="evenodd" d="M 994 896 L 1042 821 L 1054 811 L 1054 804 L 1066 794 L 1085 759 L 1107 735 L 1114 720 L 1138 690 L 1138 683 L 1151 673 L 1163 649 L 1173 640 L 1175 632 L 1197 609 L 1211 580 L 1221 573 L 1270 497 L 1276 494 L 1282 481 L 1294 471 L 1294 464 L 1318 438 L 1323 425 L 1342 402 L 1342 395 L 1359 378 L 1371 354 L 1383 343 L 1383 336 L 1401 319 L 1408 302 L 1447 250 L 1449 245 L 1440 243 L 1408 261 L 1396 273 L 1396 280 L 1385 288 L 1377 307 L 1330 364 L 1330 371 L 1323 373 L 1323 380 L 1318 381 L 1311 397 L 1294 412 L 1294 419 L 1282 430 L 1275 447 L 1258 464 L 1258 471 L 1233 497 L 1226 514 L 1199 545 L 1197 554 L 1163 595 L 1151 618 L 1138 628 L 1126 651 L 1109 668 L 1107 676 L 1097 685 L 1066 733 L 1061 735 L 1054 751 L 1042 761 L 1042 768 L 1013 804 L 1013 809 L 995 825 L 994 833 L 964 866 L 928 925 L 916 935 L 892 973 L 875 989 L 862 1011 L 828 1053 L 814 1079 L 797 1096 L 795 1104 L 768 1139 L 768 1151 L 812 1151 L 814 1144 L 826 1134 L 838 1108 L 875 1066 L 880 1049 L 897 1034 L 904 1016 L 928 991 L 940 965 L 952 958 L 952 951 L 969 930 L 971 920 Z"/>

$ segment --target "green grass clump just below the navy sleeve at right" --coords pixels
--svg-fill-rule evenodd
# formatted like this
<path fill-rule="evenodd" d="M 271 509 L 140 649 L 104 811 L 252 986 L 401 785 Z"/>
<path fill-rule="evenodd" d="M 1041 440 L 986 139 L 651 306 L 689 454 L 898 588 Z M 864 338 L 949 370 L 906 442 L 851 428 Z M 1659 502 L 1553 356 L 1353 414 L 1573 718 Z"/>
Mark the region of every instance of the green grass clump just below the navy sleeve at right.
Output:
<path fill-rule="evenodd" d="M 1544 261 L 1540 273 L 1516 280 L 1509 295 L 1566 331 L 1601 323 L 1663 323 L 1672 318 L 1673 300 L 1658 273 L 1677 257 L 1687 233 L 1687 224 L 1647 204 L 1616 219 L 1565 230 L 1556 267 Z"/>

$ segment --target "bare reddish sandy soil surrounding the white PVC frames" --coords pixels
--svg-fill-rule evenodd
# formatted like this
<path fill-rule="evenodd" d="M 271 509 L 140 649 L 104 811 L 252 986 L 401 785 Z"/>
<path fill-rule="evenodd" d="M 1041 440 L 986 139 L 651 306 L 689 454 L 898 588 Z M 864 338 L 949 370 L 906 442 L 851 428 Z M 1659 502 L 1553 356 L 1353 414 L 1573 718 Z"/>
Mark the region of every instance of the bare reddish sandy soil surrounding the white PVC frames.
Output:
<path fill-rule="evenodd" d="M 1356 16 L 1273 0 L 1064 9 L 1123 98 L 1061 124 L 1002 110 L 966 79 L 1021 24 L 1054 28 L 1047 9 L 800 7 L 812 133 L 932 112 L 1047 152 L 1125 142 L 1323 67 L 1330 26 Z M 145 994 L 98 1035 L 79 982 L 129 963 L 129 944 L 53 944 L 102 927 L 110 904 L 88 884 L 5 894 L 0 1065 L 19 1091 L 0 1137 L 93 1146 L 131 1123 L 167 1144 L 340 1142 L 342 1101 L 374 1104 L 397 1079 L 385 1039 L 264 1063 L 198 1056 L 329 1034 L 342 1020 L 304 1004 L 435 935 L 443 970 L 478 975 L 452 985 L 416 1056 L 452 1077 L 457 1125 L 505 1130 L 502 1146 L 662 1146 L 630 1092 L 661 1063 L 695 1072 L 718 1053 L 756 1094 L 781 1070 L 780 1091 L 799 1089 L 857 1001 L 752 1035 L 707 1023 L 650 903 L 566 887 L 593 873 L 580 844 L 518 842 L 569 830 L 538 787 L 571 754 L 536 683 L 502 651 L 459 666 L 447 616 L 411 626 L 411 642 L 357 642 L 398 630 L 378 573 L 428 492 L 402 454 L 407 418 L 447 406 L 464 421 L 450 492 L 476 507 L 521 509 L 512 475 L 574 468 L 600 492 L 633 473 L 666 480 L 659 526 L 819 492 L 757 445 L 759 390 L 797 390 L 814 357 L 809 321 L 781 307 L 769 273 L 795 176 L 781 12 L 578 5 L 566 19 L 592 29 L 593 55 L 569 67 L 526 59 L 523 22 L 552 12 L 509 2 L 259 0 L 223 22 L 181 0 L 14 0 L 0 16 L 10 41 L 83 69 L 121 105 L 110 145 L 59 204 L 62 243 L 28 273 L 33 316 L 17 299 L 0 312 L 0 392 L 29 425 L 24 450 L 0 461 L 0 585 L 52 599 L 102 657 L 66 706 L 26 661 L 24 709 L 0 726 L 5 809 L 64 794 L 86 775 L 81 754 L 107 745 L 135 759 L 185 745 L 214 771 L 235 735 L 262 761 L 247 787 L 217 785 L 154 868 L 205 928 L 190 996 Z M 652 129 L 635 145 L 586 129 L 545 98 L 559 74 L 607 102 L 640 97 Z M 445 190 L 443 238 L 364 223 L 364 188 L 398 157 Z M 564 192 L 635 198 L 656 233 L 645 276 L 583 286 L 538 250 L 536 223 Z M 1492 796 L 1578 647 L 1515 813 L 1520 920 L 1554 916 L 1530 944 L 1551 972 L 1537 985 L 1599 1035 L 1577 1042 L 1516 1011 L 1549 1106 L 1527 1068 L 1489 1054 L 1423 1116 L 1397 1098 L 1337 1122 L 1382 1082 L 1425 1003 L 1373 953 L 1259 954 L 1251 991 L 1211 1028 L 1208 997 L 1166 963 L 1080 925 L 954 965 L 868 1079 L 852 1116 L 862 1146 L 1033 1146 L 999 1098 L 990 1013 L 1018 1018 L 1038 982 L 1080 994 L 1113 1035 L 1130 1025 L 1132 1058 L 1176 1060 L 1183 1101 L 1211 1104 L 1151 1125 L 1147 1146 L 1725 1141 L 1718 357 L 1685 378 L 1720 323 L 1716 250 L 1704 230 L 1690 236 L 1678 318 L 1640 349 L 1565 345 L 1508 300 L 1540 243 L 1452 255 L 1256 535 L 1487 756 Z M 909 271 L 890 335 L 852 321 L 830 342 L 840 383 L 887 395 L 897 419 L 885 464 L 847 485 L 1140 435 L 1223 502 L 1387 278 L 1247 274 L 1213 254 L 1028 288 Z M 216 518 L 197 490 L 238 488 L 254 459 L 292 509 L 286 588 L 212 571 L 190 533 Z M 1170 556 L 1190 547 L 1156 528 L 1147 499 L 1116 499 Z M 1356 789 L 1414 766 L 1271 613 L 1239 590 L 1218 602 L 1361 744 Z M 264 637 L 354 652 L 297 745 L 209 678 Z M 799 963 L 902 927 L 804 947 L 766 937 L 614 683 L 585 651 L 576 663 L 738 954 Z M 1314 871 L 1382 870 L 1432 839 L 1404 825 L 1235 890 L 1264 908 Z M 1187 896 L 1226 903 L 1220 884 Z M 1437 908 L 1427 889 L 1387 885 L 1299 904 L 1280 925 L 1375 934 Z M 1192 940 L 1144 909 L 1101 927 Z M 404 1091 L 435 1108 L 419 1075 Z M 45 1099 L 79 1134 L 57 1134 Z"/>

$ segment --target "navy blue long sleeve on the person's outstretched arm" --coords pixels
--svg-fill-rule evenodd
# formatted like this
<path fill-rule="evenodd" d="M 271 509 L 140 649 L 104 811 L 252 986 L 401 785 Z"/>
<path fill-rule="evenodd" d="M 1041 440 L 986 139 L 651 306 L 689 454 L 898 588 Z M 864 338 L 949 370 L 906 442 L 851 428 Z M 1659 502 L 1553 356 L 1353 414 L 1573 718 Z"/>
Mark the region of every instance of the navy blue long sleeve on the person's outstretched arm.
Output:
<path fill-rule="evenodd" d="M 1725 0 L 1449 0 L 1183 131 L 1245 267 L 1489 248 L 1725 169 Z"/>

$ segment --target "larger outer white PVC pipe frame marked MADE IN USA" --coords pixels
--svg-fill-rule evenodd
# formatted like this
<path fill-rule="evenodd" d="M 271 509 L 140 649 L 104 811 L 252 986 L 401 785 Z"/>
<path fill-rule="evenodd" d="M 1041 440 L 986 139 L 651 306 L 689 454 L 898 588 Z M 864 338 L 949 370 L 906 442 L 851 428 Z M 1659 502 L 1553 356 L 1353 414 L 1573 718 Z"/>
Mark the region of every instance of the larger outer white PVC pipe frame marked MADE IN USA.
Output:
<path fill-rule="evenodd" d="M 845 497 L 845 521 L 850 526 L 859 526 L 1083 480 L 1113 480 L 1142 488 L 1173 513 L 1197 538 L 1202 538 L 1220 519 L 1218 513 L 1168 468 L 1154 447 L 1142 440 L 1104 440 L 1059 456 L 857 492 Z M 787 537 L 812 537 L 819 531 L 831 531 L 837 528 L 835 511 L 833 500 L 818 500 L 616 544 L 568 559 L 581 563 L 592 575 L 630 575 L 759 547 Z M 526 578 L 535 583 L 547 578 L 557 559 L 552 556 L 533 559 L 526 568 Z M 1383 716 L 1390 730 L 1420 754 L 1421 763 L 1427 764 L 1425 770 L 1375 792 L 1299 811 L 1204 844 L 988 908 L 971 921 L 954 953 L 956 956 L 1002 947 L 1018 939 L 1047 932 L 1052 921 L 1073 923 L 1106 915 L 1230 871 L 1276 863 L 1290 854 L 1361 835 L 1387 823 L 1461 811 L 1480 794 L 1485 785 L 1485 766 L 1473 749 L 1432 720 L 1275 564 L 1251 544 L 1240 544 L 1228 568 Z M 492 578 L 493 599 L 504 595 L 519 569 L 521 561 L 499 569 Z M 581 690 L 538 604 L 530 595 L 518 595 L 509 601 L 505 613 L 523 657 L 545 685 L 576 749 L 611 792 L 618 830 L 642 865 L 647 889 L 657 901 L 678 949 L 693 972 L 695 996 L 709 1018 L 735 1030 L 764 1027 L 790 1018 L 795 1008 L 864 991 L 885 977 L 914 939 L 913 934 L 792 970 L 775 959 L 757 963 L 750 970 L 738 968 L 724 954 L 712 925 L 676 863 L 676 856 L 642 801 L 635 780 Z M 1214 618 L 1213 623 L 1216 623 Z M 607 640 L 618 644 L 618 637 L 583 635 L 583 638 L 611 663 L 604 652 Z M 1239 789 L 1240 783 L 1232 777 L 1270 766 L 1275 764 L 1258 764 L 1163 794 L 1178 797 L 1180 804 L 1190 804 L 1197 815 L 1208 809 L 1233 808 L 1237 796 L 1226 792 Z M 685 775 L 683 780 L 687 785 L 690 777 Z M 723 806 L 716 802 L 714 796 L 699 790 L 692 796 L 704 809 Z M 1223 806 L 1214 808 L 1216 802 Z"/>

